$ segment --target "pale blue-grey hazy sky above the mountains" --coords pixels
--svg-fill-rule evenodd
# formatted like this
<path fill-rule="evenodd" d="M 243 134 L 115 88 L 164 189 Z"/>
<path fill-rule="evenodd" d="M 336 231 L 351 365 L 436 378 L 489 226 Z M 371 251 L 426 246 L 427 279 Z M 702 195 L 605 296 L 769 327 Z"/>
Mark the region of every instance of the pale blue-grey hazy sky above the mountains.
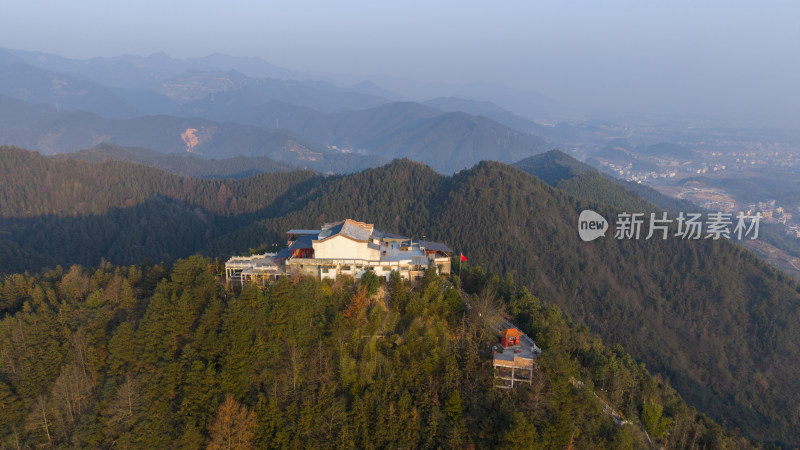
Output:
<path fill-rule="evenodd" d="M 69 57 L 222 52 L 609 111 L 800 120 L 797 1 L 0 1 L 0 46 Z"/>

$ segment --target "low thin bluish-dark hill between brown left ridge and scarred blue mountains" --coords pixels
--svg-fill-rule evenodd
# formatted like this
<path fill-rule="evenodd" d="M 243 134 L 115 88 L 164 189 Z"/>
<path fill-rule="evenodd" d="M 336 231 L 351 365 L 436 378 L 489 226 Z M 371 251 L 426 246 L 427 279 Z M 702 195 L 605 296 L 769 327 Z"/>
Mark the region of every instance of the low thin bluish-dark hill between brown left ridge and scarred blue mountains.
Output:
<path fill-rule="evenodd" d="M 215 160 L 190 153 L 164 154 L 145 148 L 120 147 L 112 144 L 100 144 L 90 149 L 53 157 L 89 162 L 127 161 L 194 178 L 246 178 L 259 173 L 297 170 L 297 167 L 266 156 L 237 156 Z"/>

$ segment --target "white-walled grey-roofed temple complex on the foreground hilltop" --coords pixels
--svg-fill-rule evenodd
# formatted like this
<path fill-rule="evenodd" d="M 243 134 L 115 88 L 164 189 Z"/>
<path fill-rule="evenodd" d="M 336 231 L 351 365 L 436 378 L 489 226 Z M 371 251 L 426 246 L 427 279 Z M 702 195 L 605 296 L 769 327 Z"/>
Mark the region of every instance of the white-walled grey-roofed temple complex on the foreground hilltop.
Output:
<path fill-rule="evenodd" d="M 416 280 L 429 267 L 450 273 L 452 250 L 446 245 L 385 233 L 355 220 L 326 223 L 319 230 L 292 229 L 286 236 L 287 247 L 278 253 L 232 257 L 225 264 L 226 278 L 242 283 L 297 273 L 360 278 L 369 270 L 387 279 L 397 271 L 404 279 Z"/>

